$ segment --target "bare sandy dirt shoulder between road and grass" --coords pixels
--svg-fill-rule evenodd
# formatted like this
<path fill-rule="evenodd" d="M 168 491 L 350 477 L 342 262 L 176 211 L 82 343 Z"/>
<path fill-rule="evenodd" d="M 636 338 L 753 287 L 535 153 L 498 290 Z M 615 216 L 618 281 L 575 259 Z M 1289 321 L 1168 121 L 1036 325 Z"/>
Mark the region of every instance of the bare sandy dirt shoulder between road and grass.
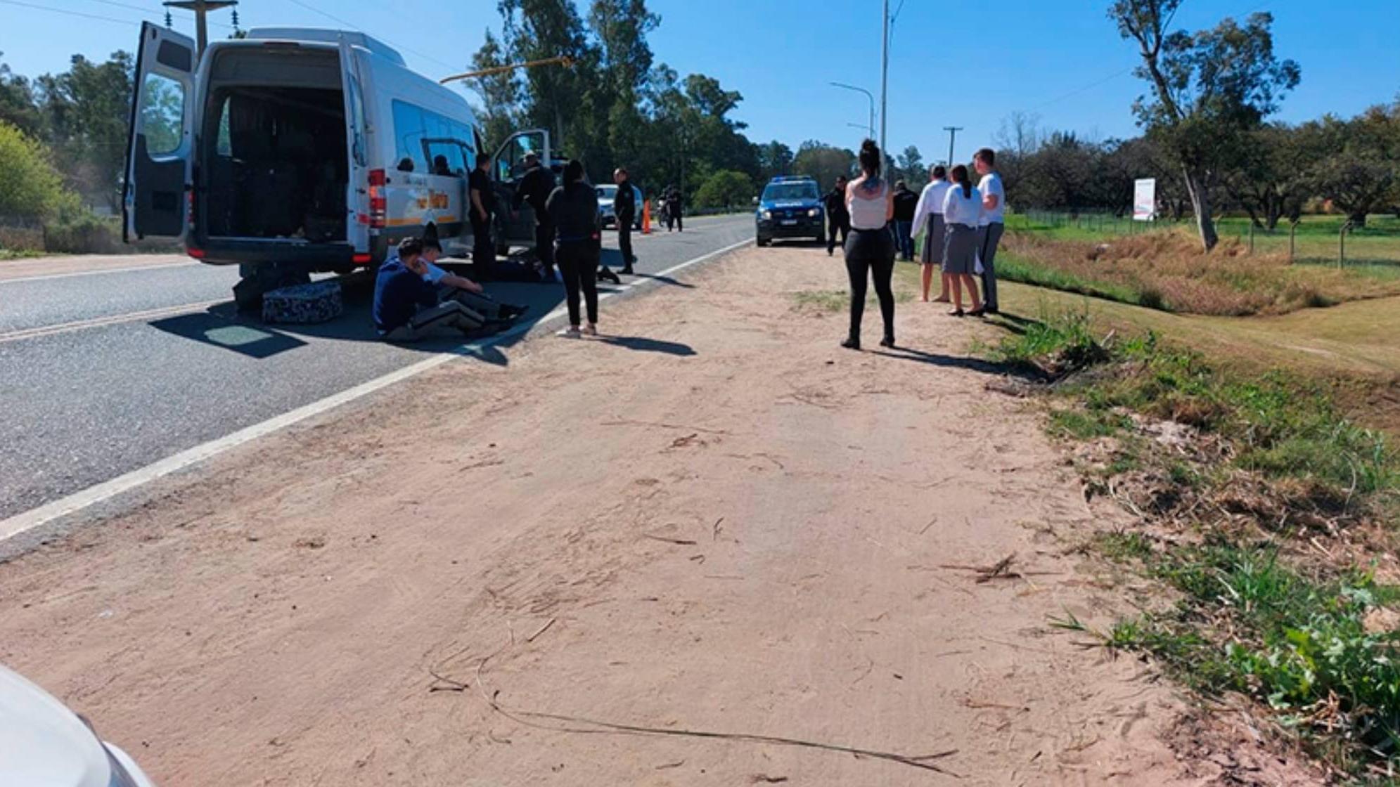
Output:
<path fill-rule="evenodd" d="M 841 288 L 745 249 L 162 481 L 0 565 L 0 661 L 165 786 L 1309 783 L 1049 626 L 1121 590 L 991 328 Z"/>

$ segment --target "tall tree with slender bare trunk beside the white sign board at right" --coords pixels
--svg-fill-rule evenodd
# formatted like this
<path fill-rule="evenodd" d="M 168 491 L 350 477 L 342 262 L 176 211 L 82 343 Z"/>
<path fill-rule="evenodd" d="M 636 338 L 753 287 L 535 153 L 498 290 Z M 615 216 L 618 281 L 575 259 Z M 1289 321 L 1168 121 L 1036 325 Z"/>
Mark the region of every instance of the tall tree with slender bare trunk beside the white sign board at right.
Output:
<path fill-rule="evenodd" d="M 1301 70 L 1274 57 L 1273 15 L 1252 14 L 1243 27 L 1224 20 L 1215 29 L 1169 32 L 1182 0 L 1116 0 L 1109 18 L 1138 45 L 1137 75 L 1151 96 L 1133 105 L 1148 136 L 1173 159 L 1196 214 L 1201 245 L 1218 240 L 1210 192 L 1238 159 L 1243 137 L 1298 85 Z"/>

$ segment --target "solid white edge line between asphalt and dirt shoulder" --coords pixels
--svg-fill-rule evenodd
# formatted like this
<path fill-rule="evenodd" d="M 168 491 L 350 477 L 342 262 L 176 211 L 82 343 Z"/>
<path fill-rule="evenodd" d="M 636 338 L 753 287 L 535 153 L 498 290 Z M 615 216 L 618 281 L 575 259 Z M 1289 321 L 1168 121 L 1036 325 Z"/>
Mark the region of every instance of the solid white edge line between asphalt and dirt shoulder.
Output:
<path fill-rule="evenodd" d="M 651 277 L 671 275 L 671 274 L 673 274 L 673 273 L 676 273 L 679 270 L 683 270 L 683 268 L 687 268 L 690 266 L 703 263 L 706 260 L 718 257 L 720 254 L 732 252 L 732 250 L 735 250 L 735 249 L 738 249 L 741 246 L 748 246 L 750 243 L 753 243 L 753 240 L 741 240 L 738 243 L 731 243 L 729 246 L 725 246 L 722 249 L 715 249 L 714 252 L 710 252 L 707 254 L 701 254 L 701 256 L 694 257 L 692 260 L 686 260 L 686 261 L 683 261 L 680 264 L 672 266 L 672 267 L 669 267 L 669 268 L 666 268 L 666 270 L 664 270 L 661 273 L 648 274 L 648 275 L 651 275 Z M 633 289 L 634 287 L 638 287 L 638 285 L 643 285 L 643 284 L 651 284 L 651 280 L 645 280 L 644 278 L 641 281 L 634 281 L 634 282 L 626 284 L 626 285 L 623 285 L 623 287 L 620 287 L 620 288 L 617 288 L 617 289 L 615 289 L 612 292 L 599 294 L 598 299 L 603 301 L 606 298 L 622 295 L 623 292 L 627 292 L 629 289 Z M 389 372 L 388 375 L 384 375 L 381 377 L 375 377 L 375 379 L 372 379 L 370 382 L 360 383 L 358 386 L 354 386 L 351 389 L 346 389 L 346 390 L 343 390 L 343 391 L 340 391 L 337 394 L 328 396 L 326 398 L 322 398 L 319 401 L 314 401 L 311 404 L 298 407 L 297 410 L 293 410 L 290 412 L 283 412 L 281 415 L 276 415 L 276 417 L 269 418 L 267 421 L 263 421 L 260 424 L 253 424 L 252 426 L 245 426 L 245 428 L 242 428 L 242 429 L 239 429 L 239 431 L 237 431 L 237 432 L 234 432 L 231 435 L 225 435 L 223 438 L 217 438 L 214 440 L 210 440 L 207 443 L 195 446 L 192 449 L 186 449 L 186 450 L 178 453 L 178 454 L 168 456 L 168 457 L 165 457 L 165 459 L 162 459 L 162 460 L 160 460 L 160 461 L 157 461 L 154 464 L 148 464 L 148 465 L 146 465 L 146 467 L 143 467 L 140 470 L 133 470 L 132 472 L 127 472 L 125 475 L 119 475 L 116 478 L 112 478 L 111 481 L 104 481 L 104 482 L 97 484 L 94 486 L 88 486 L 87 489 L 83 489 L 80 492 L 74 492 L 74 493 L 71 493 L 71 495 L 69 495 L 66 498 L 53 500 L 50 503 L 45 503 L 42 506 L 29 509 L 29 510 L 27 510 L 24 513 L 20 513 L 20 514 L 15 514 L 15 516 L 13 516 L 10 519 L 6 519 L 6 520 L 0 521 L 0 541 L 6 541 L 7 538 L 13 538 L 13 537 L 15 537 L 15 535 L 18 535 L 21 533 L 28 531 L 28 530 L 34 530 L 35 527 L 39 527 L 42 524 L 48 524 L 48 523 L 50 523 L 50 521 L 53 521 L 53 520 L 56 520 L 59 517 L 64 517 L 64 516 L 69 516 L 71 513 L 77 513 L 77 512 L 80 512 L 80 510 L 83 510 L 83 509 L 85 509 L 88 506 L 94 506 L 94 505 L 101 503 L 104 500 L 109 500 L 109 499 L 115 498 L 116 495 L 120 495 L 123 492 L 134 489 L 134 488 L 137 488 L 137 486 L 140 486 L 143 484 L 147 484 L 150 481 L 155 481 L 157 478 L 162 478 L 162 477 L 169 475 L 172 472 L 178 472 L 181 470 L 185 470 L 185 468 L 188 468 L 190 465 L 199 464 L 199 463 L 202 463 L 202 461 L 204 461 L 204 460 L 207 460 L 207 459 L 210 459 L 210 457 L 213 457 L 216 454 L 227 452 L 228 449 L 232 449 L 232 447 L 241 446 L 244 443 L 256 440 L 258 438 L 262 438 L 262 436 L 270 435 L 273 432 L 277 432 L 279 429 L 284 429 L 287 426 L 291 426 L 293 424 L 297 424 L 298 421 L 305 421 L 307 418 L 311 418 L 314 415 L 321 415 L 322 412 L 326 412 L 326 411 L 333 410 L 336 407 L 340 407 L 343 404 L 349 404 L 349 403 L 351 403 L 351 401 L 354 401 L 357 398 L 365 397 L 365 396 L 368 396 L 368 394 L 371 394 L 374 391 L 378 391 L 378 390 L 385 389 L 388 386 L 392 386 L 395 383 L 407 380 L 409 377 L 414 377 L 417 375 L 421 375 L 423 372 L 427 372 L 428 369 L 434 369 L 437 366 L 441 366 L 442 363 L 447 363 L 448 361 L 452 361 L 454 358 L 461 358 L 463 355 L 468 355 L 468 356 L 469 355 L 475 355 L 476 352 L 482 351 L 486 347 L 491 347 L 491 345 L 498 344 L 498 342 L 501 342 L 501 341 L 504 341 L 507 338 L 512 338 L 512 337 L 521 335 L 524 333 L 529 333 L 536 326 L 545 326 L 550 320 L 553 320 L 553 319 L 556 319 L 559 316 L 563 316 L 567 312 L 568 310 L 564 306 L 560 306 L 560 308 L 554 309 L 553 312 L 550 312 L 549 315 L 545 315 L 543 317 L 540 317 L 539 322 L 536 322 L 533 324 L 518 324 L 518 326 L 515 326 L 515 327 L 512 327 L 512 328 L 510 328 L 510 330 L 507 330 L 504 333 L 496 334 L 493 337 L 489 337 L 489 338 L 484 338 L 484 340 L 480 340 L 480 341 L 470 341 L 470 342 L 466 342 L 466 344 L 463 344 L 461 347 L 449 349 L 447 352 L 440 352 L 437 355 L 424 358 L 423 361 L 419 361 L 417 363 L 412 363 L 412 365 L 405 366 L 402 369 L 398 369 L 395 372 Z"/>

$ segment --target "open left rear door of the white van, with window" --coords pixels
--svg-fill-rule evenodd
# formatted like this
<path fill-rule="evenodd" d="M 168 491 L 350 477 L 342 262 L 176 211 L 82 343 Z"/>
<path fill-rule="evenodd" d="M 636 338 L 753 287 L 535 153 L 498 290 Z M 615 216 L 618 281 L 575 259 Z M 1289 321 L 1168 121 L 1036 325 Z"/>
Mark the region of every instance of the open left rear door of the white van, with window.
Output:
<path fill-rule="evenodd" d="M 185 235 L 197 64 L 193 39 L 141 22 L 122 193 L 127 243 Z"/>

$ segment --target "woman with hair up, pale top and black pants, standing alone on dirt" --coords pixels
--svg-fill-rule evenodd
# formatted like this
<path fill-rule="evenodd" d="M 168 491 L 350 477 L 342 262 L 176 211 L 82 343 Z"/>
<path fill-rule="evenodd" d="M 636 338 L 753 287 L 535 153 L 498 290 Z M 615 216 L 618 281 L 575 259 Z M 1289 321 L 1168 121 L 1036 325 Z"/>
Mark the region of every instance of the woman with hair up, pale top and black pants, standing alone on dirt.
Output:
<path fill-rule="evenodd" d="M 895 190 L 881 178 L 881 151 L 874 140 L 861 144 L 861 176 L 846 186 L 846 207 L 851 215 L 851 235 L 846 239 L 846 273 L 851 278 L 851 331 L 841 342 L 861 348 L 861 316 L 865 313 L 867 275 L 875 280 L 885 338 L 881 347 L 895 347 L 895 235 L 889 221 L 895 215 Z"/>

